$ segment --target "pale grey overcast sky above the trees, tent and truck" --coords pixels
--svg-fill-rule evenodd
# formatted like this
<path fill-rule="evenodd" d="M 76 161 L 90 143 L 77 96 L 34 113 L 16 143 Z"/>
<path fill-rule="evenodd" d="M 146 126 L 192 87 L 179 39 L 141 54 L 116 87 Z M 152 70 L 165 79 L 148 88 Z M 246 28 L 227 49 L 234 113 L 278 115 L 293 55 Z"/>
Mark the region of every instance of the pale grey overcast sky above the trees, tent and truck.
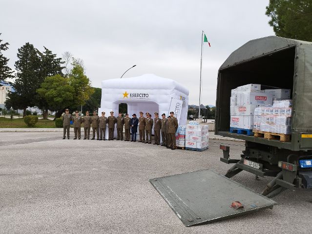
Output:
<path fill-rule="evenodd" d="M 269 0 L 2 0 L 0 38 L 14 68 L 26 42 L 83 60 L 92 86 L 146 73 L 176 80 L 198 105 L 201 33 L 202 102 L 215 104 L 218 69 L 255 38 L 274 35 L 265 15 Z"/>

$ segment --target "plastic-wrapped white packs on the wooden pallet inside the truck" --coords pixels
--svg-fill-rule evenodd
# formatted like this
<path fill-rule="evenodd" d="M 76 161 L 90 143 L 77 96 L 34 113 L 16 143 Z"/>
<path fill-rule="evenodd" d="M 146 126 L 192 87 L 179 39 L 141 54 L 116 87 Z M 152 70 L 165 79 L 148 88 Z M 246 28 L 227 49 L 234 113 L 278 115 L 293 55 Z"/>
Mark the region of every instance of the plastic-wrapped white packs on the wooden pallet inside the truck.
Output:
<path fill-rule="evenodd" d="M 273 106 L 259 106 L 254 111 L 254 130 L 291 134 L 291 100 L 273 101 Z"/>

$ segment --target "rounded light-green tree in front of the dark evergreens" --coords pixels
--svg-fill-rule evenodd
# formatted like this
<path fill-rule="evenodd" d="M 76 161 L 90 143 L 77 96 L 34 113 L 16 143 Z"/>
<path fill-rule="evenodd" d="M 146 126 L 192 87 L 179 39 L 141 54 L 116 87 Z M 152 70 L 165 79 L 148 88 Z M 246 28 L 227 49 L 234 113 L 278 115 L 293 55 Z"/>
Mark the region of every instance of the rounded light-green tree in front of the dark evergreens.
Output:
<path fill-rule="evenodd" d="M 62 111 L 73 103 L 75 90 L 67 78 L 54 75 L 46 77 L 37 92 L 44 98 L 50 110 Z"/>

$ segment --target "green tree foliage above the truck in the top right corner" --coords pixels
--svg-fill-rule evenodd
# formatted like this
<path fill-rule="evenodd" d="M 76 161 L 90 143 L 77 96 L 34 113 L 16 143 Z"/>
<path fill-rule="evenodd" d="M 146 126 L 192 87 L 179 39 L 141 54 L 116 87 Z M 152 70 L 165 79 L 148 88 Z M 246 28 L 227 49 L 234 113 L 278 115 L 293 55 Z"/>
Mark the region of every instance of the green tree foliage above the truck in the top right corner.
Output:
<path fill-rule="evenodd" d="M 312 41 L 311 0 L 270 0 L 266 9 L 276 36 Z"/>

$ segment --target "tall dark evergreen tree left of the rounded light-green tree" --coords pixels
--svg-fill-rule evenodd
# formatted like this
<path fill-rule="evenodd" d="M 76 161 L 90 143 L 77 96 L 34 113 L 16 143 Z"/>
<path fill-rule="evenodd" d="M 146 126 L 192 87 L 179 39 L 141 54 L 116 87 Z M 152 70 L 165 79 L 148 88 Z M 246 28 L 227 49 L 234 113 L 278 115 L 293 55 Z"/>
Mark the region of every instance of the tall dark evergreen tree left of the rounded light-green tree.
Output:
<path fill-rule="evenodd" d="M 27 106 L 35 105 L 36 90 L 40 86 L 41 60 L 33 44 L 26 43 L 18 50 L 18 61 L 15 62 L 16 80 L 14 89 L 22 100 L 23 117 Z M 17 95 L 10 98 L 17 97 Z M 13 100 L 16 103 L 16 100 Z"/>

